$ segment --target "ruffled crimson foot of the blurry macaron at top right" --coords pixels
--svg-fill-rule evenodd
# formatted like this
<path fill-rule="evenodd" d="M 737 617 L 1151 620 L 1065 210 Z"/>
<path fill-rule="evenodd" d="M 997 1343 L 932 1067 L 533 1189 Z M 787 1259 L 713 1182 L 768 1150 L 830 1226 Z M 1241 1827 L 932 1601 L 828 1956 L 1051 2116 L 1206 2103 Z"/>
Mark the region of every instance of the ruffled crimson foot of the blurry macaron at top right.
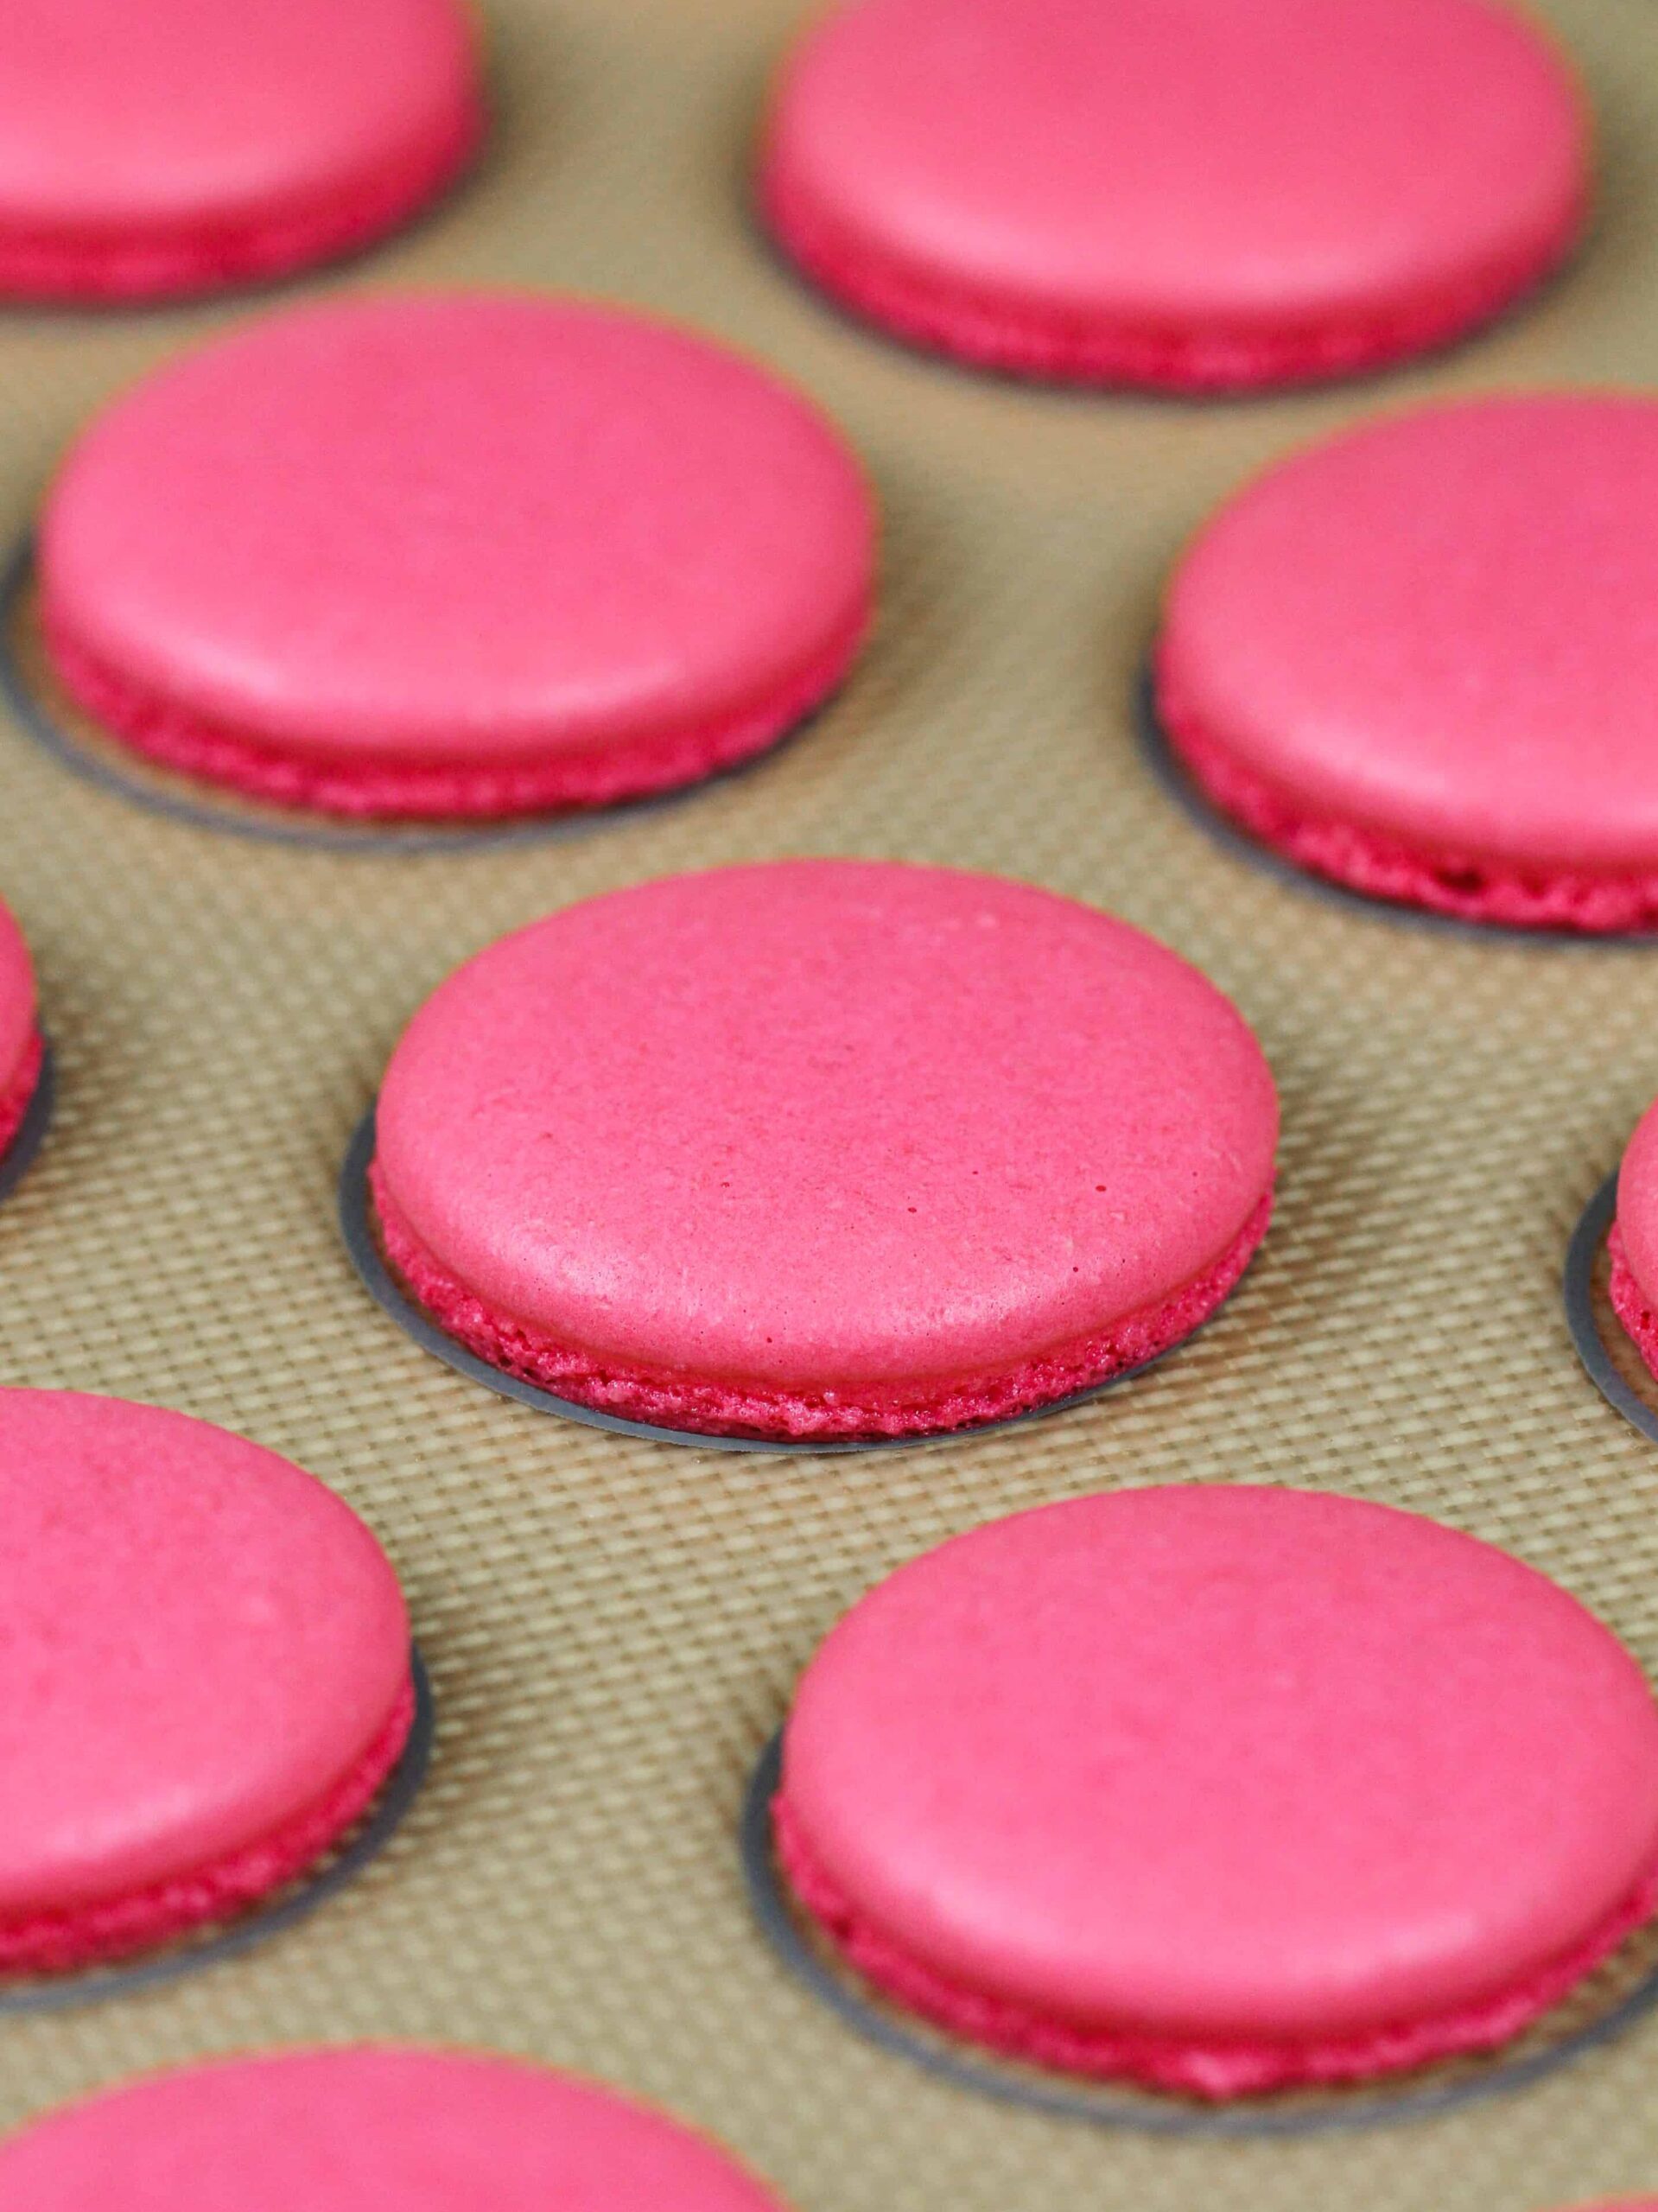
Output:
<path fill-rule="evenodd" d="M 1587 186 L 1556 234 L 1410 307 L 1282 330 L 1200 330 L 1112 323 L 1043 305 L 975 296 L 948 274 L 880 259 L 794 184 L 774 155 L 758 181 L 772 237 L 831 299 L 915 345 L 977 367 L 1054 383 L 1125 385 L 1192 396 L 1360 376 L 1448 345 L 1534 292 L 1576 248 Z"/>

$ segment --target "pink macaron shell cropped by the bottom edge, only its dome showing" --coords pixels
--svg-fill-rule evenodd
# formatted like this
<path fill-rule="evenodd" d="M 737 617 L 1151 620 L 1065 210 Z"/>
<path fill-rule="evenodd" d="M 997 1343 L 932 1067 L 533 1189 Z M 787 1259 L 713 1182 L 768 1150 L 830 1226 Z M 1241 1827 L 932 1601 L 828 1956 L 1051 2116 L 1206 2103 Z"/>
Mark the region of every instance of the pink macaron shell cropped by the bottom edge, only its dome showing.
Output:
<path fill-rule="evenodd" d="M 148 2075 L 0 2143 L 7 2212 L 783 2212 L 679 2121 L 524 2059 L 345 2044 Z"/>

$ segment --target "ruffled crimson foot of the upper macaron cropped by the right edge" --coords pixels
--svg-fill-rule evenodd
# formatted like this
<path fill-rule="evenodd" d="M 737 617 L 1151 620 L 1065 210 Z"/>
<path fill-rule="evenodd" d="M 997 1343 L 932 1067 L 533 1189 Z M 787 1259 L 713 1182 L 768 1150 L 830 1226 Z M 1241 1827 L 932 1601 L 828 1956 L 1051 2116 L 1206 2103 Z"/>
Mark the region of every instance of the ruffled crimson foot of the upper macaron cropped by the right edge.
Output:
<path fill-rule="evenodd" d="M 1169 750 L 1203 796 L 1260 845 L 1366 898 L 1424 907 L 1461 922 L 1638 936 L 1658 929 L 1658 867 L 1592 876 L 1512 867 L 1479 854 L 1424 854 L 1399 838 L 1300 810 L 1240 765 L 1185 706 L 1167 655 L 1154 657 L 1156 719 Z"/>

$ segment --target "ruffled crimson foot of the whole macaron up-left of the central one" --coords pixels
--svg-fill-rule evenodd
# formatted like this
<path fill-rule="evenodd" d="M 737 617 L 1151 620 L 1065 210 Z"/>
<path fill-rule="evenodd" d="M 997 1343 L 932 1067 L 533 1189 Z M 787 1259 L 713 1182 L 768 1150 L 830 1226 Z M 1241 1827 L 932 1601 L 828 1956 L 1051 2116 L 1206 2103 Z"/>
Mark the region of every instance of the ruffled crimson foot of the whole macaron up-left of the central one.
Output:
<path fill-rule="evenodd" d="M 347 821 L 500 821 L 617 805 L 701 783 L 767 752 L 816 712 L 851 672 L 869 622 L 864 599 L 785 690 L 723 721 L 539 761 L 338 763 L 259 743 L 144 690 L 91 653 L 60 608 L 51 602 L 40 608 L 40 635 L 57 681 L 117 743 L 203 785 Z"/>

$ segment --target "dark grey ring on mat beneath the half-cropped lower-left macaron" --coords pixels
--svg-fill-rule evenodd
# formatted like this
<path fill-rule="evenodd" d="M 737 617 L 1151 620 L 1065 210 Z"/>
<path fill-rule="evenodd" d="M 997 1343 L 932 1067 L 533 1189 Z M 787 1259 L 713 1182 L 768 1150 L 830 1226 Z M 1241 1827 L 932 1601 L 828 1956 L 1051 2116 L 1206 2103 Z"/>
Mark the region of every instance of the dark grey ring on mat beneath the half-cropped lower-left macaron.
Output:
<path fill-rule="evenodd" d="M 175 1982 L 183 1973 L 199 1973 L 219 1960 L 239 1958 L 254 1944 L 270 1942 L 283 1929 L 292 1929 L 338 1896 L 347 1882 L 378 1858 L 402 1827 L 420 1785 L 431 1765 L 436 1736 L 436 1712 L 431 1703 L 431 1677 L 418 1650 L 409 1655 L 413 1677 L 416 1712 L 402 1756 L 380 1787 L 374 1805 L 332 1845 L 323 1858 L 296 1880 L 285 1882 L 274 1896 L 239 1913 L 234 1920 L 214 1920 L 155 1951 L 141 1951 L 130 1960 L 115 1960 L 108 1966 L 84 1966 L 75 1973 L 46 1973 L 15 1980 L 0 1980 L 0 2024 L 15 2013 L 64 2013 L 82 2004 L 104 2004 L 113 1997 L 128 1997 L 141 1989 L 157 1989 Z"/>

